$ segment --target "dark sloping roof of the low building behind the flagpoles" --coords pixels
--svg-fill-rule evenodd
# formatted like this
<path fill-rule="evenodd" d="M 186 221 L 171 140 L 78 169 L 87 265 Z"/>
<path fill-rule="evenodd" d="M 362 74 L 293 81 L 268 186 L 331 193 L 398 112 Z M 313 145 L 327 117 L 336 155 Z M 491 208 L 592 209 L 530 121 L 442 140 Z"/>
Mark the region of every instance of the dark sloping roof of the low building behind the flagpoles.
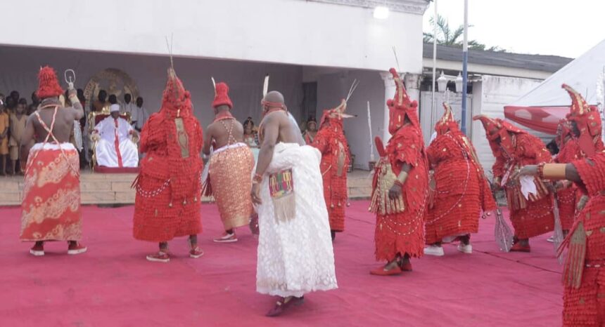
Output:
<path fill-rule="evenodd" d="M 422 56 L 433 58 L 433 44 L 424 44 Z M 462 49 L 437 45 L 437 59 L 461 62 Z M 472 64 L 521 68 L 540 72 L 554 73 L 572 60 L 573 58 L 559 57 L 558 55 L 525 55 L 469 49 L 469 63 Z"/>

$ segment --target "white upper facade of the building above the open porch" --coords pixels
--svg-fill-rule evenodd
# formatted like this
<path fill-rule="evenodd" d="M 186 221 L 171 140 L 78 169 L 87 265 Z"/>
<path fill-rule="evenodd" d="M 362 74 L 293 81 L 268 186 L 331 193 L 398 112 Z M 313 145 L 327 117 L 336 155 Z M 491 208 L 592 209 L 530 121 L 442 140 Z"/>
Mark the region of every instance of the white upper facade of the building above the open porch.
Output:
<path fill-rule="evenodd" d="M 4 15 L 0 44 L 179 57 L 421 72 L 422 13 L 303 0 L 20 0 Z M 15 27 L 14 29 L 8 27 Z M 18 28 L 17 28 L 18 27 Z M 387 66 L 387 67 L 386 67 Z"/>

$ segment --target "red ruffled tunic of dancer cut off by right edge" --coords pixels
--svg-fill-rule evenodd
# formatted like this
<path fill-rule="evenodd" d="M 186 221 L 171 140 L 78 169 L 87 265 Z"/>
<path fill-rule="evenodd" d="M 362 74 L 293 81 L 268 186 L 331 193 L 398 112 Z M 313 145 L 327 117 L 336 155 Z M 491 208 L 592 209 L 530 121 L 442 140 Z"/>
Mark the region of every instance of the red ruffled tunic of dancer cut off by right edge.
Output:
<path fill-rule="evenodd" d="M 580 287 L 565 286 L 563 326 L 605 326 L 605 153 L 573 161 L 573 166 L 582 180 L 579 187 L 590 195 L 590 201 L 570 233 L 583 227 L 586 256 Z M 573 253 L 576 246 L 572 237 L 568 253 Z"/>

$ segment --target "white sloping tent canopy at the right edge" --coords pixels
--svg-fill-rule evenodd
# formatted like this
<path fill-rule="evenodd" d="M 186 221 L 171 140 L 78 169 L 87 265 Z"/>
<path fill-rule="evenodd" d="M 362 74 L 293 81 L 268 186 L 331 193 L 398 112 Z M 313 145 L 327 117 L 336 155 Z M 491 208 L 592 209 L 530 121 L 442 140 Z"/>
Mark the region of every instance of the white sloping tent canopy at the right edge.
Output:
<path fill-rule="evenodd" d="M 605 40 L 568 63 L 532 91 L 511 103 L 519 107 L 554 107 L 570 105 L 571 100 L 561 84 L 565 83 L 584 95 L 590 105 L 598 105 L 597 84 L 605 71 Z"/>

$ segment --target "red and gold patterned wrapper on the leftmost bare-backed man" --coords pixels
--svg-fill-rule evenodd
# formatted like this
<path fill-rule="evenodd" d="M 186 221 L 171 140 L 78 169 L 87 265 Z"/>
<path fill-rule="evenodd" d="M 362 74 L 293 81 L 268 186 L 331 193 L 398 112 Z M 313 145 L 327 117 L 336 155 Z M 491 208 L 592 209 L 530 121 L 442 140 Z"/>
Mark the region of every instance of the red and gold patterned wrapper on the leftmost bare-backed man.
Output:
<path fill-rule="evenodd" d="M 27 159 L 21 241 L 82 238 L 79 155 L 71 143 L 38 143 Z"/>

